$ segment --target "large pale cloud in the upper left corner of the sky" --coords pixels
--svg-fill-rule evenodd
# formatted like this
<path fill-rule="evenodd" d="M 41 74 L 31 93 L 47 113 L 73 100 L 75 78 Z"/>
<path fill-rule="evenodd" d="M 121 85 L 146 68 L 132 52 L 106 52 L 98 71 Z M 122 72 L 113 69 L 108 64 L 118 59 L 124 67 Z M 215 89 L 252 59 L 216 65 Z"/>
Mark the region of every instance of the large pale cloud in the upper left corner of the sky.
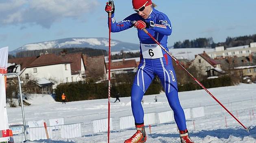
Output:
<path fill-rule="evenodd" d="M 0 1 L 0 25 L 37 24 L 50 28 L 65 18 L 81 19 L 98 4 L 97 0 Z"/>

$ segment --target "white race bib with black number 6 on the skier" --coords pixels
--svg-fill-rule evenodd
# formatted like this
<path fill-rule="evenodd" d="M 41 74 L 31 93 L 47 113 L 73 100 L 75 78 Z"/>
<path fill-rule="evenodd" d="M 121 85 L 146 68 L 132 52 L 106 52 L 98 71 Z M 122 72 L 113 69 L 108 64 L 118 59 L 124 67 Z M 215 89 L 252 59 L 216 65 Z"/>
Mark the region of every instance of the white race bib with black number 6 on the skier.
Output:
<path fill-rule="evenodd" d="M 141 44 L 142 55 L 144 59 L 162 58 L 162 49 L 158 44 Z"/>

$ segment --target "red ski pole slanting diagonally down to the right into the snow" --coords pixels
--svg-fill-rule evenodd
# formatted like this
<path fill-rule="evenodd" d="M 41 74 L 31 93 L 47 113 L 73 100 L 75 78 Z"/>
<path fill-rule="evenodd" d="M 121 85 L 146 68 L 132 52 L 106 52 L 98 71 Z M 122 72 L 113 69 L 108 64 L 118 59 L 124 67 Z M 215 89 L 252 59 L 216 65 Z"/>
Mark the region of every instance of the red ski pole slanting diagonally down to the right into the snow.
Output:
<path fill-rule="evenodd" d="M 239 124 L 241 124 L 241 126 L 243 126 L 243 128 L 245 128 L 247 131 L 249 131 L 249 128 L 247 128 L 245 125 L 243 125 L 212 93 L 210 93 L 210 91 L 204 87 L 204 85 L 199 81 L 197 80 L 192 74 L 190 74 L 190 72 L 185 68 L 183 67 L 183 65 L 173 56 L 171 55 L 149 32 L 147 29 L 142 29 L 146 34 L 148 34 L 148 36 L 150 36 L 150 38 L 152 38 L 152 40 L 154 42 L 156 42 L 156 44 L 158 44 L 172 59 L 174 59 L 174 61 L 180 65 L 180 67 L 182 69 L 184 69 L 185 71 L 187 71 L 187 73 L 189 74 L 189 76 L 191 76 L 191 78 L 193 78 L 193 80 L 195 80 L 205 91 L 206 93 L 208 93 L 211 97 L 213 97 L 213 99 L 215 101 L 217 101 L 217 103 L 219 103 L 219 105 L 221 105 L 221 107 L 223 107 L 237 122 L 239 122 Z"/>

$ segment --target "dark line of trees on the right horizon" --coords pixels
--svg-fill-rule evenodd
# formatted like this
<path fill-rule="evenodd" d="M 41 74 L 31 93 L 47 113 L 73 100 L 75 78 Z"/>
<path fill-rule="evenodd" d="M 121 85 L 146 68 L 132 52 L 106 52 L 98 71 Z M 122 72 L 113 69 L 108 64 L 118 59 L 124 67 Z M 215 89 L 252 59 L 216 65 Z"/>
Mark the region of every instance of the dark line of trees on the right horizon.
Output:
<path fill-rule="evenodd" d="M 174 48 L 215 48 L 215 46 L 234 47 L 249 45 L 256 42 L 256 34 L 249 36 L 227 37 L 225 42 L 215 43 L 213 38 L 197 38 L 195 40 L 184 40 L 183 42 L 175 42 Z"/>

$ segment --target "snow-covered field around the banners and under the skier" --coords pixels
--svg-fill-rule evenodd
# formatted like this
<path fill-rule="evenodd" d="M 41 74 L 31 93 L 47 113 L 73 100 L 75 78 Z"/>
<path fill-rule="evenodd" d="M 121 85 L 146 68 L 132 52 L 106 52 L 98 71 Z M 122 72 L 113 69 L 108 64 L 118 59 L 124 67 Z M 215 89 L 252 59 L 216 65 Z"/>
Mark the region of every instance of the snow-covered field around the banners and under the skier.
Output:
<path fill-rule="evenodd" d="M 180 92 L 179 98 L 183 108 L 204 106 L 205 116 L 187 121 L 191 139 L 196 143 L 256 143 L 256 84 L 240 84 L 238 86 L 228 86 L 219 88 L 210 88 L 210 92 L 215 95 L 230 111 L 238 116 L 239 120 L 245 126 L 252 126 L 247 132 L 240 126 L 226 111 L 220 107 L 204 90 L 194 90 Z M 107 91 L 106 91 L 107 93 Z M 67 95 L 72 96 L 72 95 Z M 106 94 L 107 96 L 107 94 Z M 143 97 L 143 107 L 145 113 L 160 112 L 170 110 L 164 93 L 157 95 L 158 102 L 154 102 L 156 95 L 147 95 Z M 120 98 L 121 102 L 113 103 L 111 99 L 111 117 L 119 118 L 121 116 L 132 115 L 130 107 L 130 97 Z M 75 101 L 62 104 L 55 102 L 50 95 L 34 95 L 28 101 L 30 106 L 25 106 L 26 121 L 48 120 L 54 118 L 70 119 L 75 116 L 96 114 L 98 119 L 107 118 L 108 100 L 97 99 L 88 101 Z M 21 108 L 7 108 L 9 123 L 22 122 Z M 254 113 L 254 114 L 253 114 Z M 227 118 L 227 127 L 225 124 Z M 68 123 L 76 122 L 69 120 Z M 193 125 L 195 123 L 195 126 Z M 87 125 L 85 125 L 87 126 Z M 90 126 L 88 124 L 88 126 Z M 91 127 L 89 127 L 91 128 Z M 135 129 L 115 130 L 110 134 L 111 143 L 123 143 L 129 138 Z M 179 135 L 176 124 L 153 125 L 152 133 L 149 134 L 147 143 L 179 143 Z M 74 139 L 53 138 L 48 140 L 32 141 L 30 143 L 106 143 L 107 134 L 101 133 L 91 135 L 88 132 L 82 132 L 82 137 Z"/>

